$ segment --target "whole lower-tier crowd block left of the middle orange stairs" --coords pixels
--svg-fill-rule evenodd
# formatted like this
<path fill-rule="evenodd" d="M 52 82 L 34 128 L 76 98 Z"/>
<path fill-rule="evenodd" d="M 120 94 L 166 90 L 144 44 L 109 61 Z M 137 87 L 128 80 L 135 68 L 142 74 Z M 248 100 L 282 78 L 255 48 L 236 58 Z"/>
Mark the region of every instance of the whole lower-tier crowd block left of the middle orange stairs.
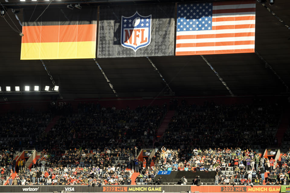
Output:
<path fill-rule="evenodd" d="M 130 185 L 130 149 L 43 150 L 32 169 L 21 170 L 13 185 Z"/>

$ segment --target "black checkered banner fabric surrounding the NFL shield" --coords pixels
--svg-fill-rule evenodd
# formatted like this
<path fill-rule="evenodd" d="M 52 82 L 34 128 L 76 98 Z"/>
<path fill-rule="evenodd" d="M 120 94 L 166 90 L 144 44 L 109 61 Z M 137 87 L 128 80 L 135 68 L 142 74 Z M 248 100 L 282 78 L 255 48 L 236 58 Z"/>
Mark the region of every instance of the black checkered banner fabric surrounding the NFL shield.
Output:
<path fill-rule="evenodd" d="M 174 55 L 174 8 L 173 3 L 100 7 L 98 58 Z M 152 20 L 150 44 L 135 52 L 121 45 L 121 22 L 136 11 Z"/>

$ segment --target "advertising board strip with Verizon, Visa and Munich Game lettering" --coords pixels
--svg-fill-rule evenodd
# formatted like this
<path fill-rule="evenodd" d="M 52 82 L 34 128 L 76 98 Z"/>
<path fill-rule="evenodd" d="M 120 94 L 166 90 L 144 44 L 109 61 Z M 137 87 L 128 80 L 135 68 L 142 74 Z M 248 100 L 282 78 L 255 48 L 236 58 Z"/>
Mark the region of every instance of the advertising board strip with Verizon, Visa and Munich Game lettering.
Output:
<path fill-rule="evenodd" d="M 38 185 L 38 186 L 2 186 L 0 192 L 42 192 L 42 193 L 52 193 L 52 192 L 199 192 L 199 193 L 222 193 L 222 192 L 248 192 L 248 193 L 279 193 L 281 190 L 281 185 L 279 186 L 262 186 L 253 185 L 250 186 L 215 186 L 215 185 L 98 185 L 87 186 L 87 185 Z"/>

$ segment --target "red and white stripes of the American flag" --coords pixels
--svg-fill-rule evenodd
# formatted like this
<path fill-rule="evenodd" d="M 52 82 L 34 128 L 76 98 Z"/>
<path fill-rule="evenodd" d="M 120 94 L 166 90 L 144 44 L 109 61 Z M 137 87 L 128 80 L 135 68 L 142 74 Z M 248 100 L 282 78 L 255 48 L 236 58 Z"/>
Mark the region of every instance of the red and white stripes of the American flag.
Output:
<path fill-rule="evenodd" d="M 255 0 L 213 2 L 212 30 L 176 32 L 176 55 L 255 52 Z"/>

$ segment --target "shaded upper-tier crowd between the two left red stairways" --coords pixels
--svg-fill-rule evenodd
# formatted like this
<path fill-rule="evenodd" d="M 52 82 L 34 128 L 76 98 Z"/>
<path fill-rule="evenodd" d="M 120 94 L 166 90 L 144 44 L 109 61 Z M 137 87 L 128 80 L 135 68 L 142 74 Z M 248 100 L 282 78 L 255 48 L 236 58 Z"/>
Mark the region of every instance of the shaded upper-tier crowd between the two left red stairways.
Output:
<path fill-rule="evenodd" d="M 80 103 L 78 113 L 64 114 L 49 133 L 40 135 L 39 141 L 45 144 L 43 148 L 62 150 L 152 146 L 166 111 L 166 104 L 138 106 L 131 110 L 128 106 L 116 109 L 114 106 L 101 107 L 98 103 Z"/>

